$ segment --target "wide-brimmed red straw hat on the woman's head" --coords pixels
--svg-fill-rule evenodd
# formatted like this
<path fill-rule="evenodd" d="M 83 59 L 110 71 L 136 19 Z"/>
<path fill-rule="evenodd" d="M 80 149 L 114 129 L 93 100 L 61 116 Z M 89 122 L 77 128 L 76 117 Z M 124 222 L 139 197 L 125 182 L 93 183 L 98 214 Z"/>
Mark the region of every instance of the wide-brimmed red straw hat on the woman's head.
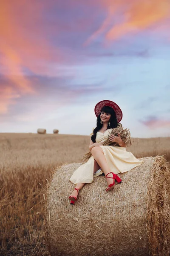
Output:
<path fill-rule="evenodd" d="M 117 122 L 119 123 L 121 120 L 122 120 L 122 110 L 119 108 L 119 106 L 115 103 L 115 102 L 112 102 L 111 100 L 102 100 L 101 102 L 98 102 L 94 108 L 94 112 L 96 114 L 96 116 L 98 117 L 99 114 L 101 113 L 101 110 L 103 107 L 105 106 L 108 106 L 108 107 L 111 107 L 113 108 L 113 110 L 115 111 L 116 113 L 116 119 L 117 119 Z"/>

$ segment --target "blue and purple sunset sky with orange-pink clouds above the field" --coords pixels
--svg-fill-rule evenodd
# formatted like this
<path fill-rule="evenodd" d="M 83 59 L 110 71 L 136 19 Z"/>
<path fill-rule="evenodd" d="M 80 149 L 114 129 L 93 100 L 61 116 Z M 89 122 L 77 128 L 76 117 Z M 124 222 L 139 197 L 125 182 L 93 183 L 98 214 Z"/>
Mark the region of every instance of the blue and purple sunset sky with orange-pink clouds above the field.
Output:
<path fill-rule="evenodd" d="M 105 99 L 170 136 L 170 0 L 0 1 L 0 132 L 89 135 Z"/>

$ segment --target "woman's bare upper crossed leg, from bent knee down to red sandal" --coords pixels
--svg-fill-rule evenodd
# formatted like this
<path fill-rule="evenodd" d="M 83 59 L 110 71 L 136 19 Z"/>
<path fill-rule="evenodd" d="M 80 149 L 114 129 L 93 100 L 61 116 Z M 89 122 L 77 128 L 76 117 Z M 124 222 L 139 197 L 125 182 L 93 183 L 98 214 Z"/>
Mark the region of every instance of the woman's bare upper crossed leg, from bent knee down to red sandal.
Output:
<path fill-rule="evenodd" d="M 106 159 L 105 159 L 105 156 L 104 156 L 104 153 L 103 153 L 101 147 L 92 148 L 91 153 L 92 153 L 94 159 L 96 160 L 96 162 L 98 163 L 98 165 L 102 168 L 103 172 L 105 173 L 105 176 L 109 172 L 111 172 L 111 169 L 109 168 L 108 163 L 106 162 Z M 112 174 L 109 174 L 108 176 L 113 177 Z M 107 180 L 108 185 L 113 183 L 113 179 L 108 178 L 106 180 Z"/>

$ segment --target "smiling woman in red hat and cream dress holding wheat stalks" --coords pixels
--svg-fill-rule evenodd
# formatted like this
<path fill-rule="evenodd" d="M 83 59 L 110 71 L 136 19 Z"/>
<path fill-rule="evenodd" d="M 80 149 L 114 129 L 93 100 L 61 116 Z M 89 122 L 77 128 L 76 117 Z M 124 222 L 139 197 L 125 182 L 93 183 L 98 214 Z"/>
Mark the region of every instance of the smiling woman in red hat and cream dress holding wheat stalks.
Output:
<path fill-rule="evenodd" d="M 73 173 L 70 180 L 76 187 L 69 196 L 71 204 L 77 200 L 79 190 L 85 183 L 91 183 L 94 177 L 105 174 L 108 187 L 113 189 L 115 180 L 121 183 L 118 173 L 128 172 L 139 166 L 142 161 L 136 159 L 132 153 L 126 151 L 126 146 L 132 144 L 129 129 L 123 129 L 122 111 L 112 101 L 104 100 L 94 108 L 97 116 L 97 126 L 90 134 L 90 152 L 83 157 L 83 164 Z"/>

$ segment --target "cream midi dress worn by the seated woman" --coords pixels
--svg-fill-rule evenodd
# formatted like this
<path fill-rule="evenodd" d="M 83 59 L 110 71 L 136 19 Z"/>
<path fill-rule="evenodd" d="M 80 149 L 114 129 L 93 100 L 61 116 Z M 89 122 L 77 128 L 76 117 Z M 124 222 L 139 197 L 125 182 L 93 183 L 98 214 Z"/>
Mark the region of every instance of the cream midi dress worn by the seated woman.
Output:
<path fill-rule="evenodd" d="M 108 139 L 109 132 L 111 129 L 106 130 L 104 133 L 97 132 L 96 134 L 96 142 L 103 144 L 105 140 Z M 90 137 L 93 135 L 90 134 Z M 126 151 L 124 147 L 117 147 L 117 146 L 100 146 L 103 150 L 105 155 L 106 161 L 108 166 L 111 169 L 111 172 L 115 174 L 128 172 L 131 169 L 139 166 L 142 161 L 139 161 L 134 155 L 130 152 Z M 73 173 L 70 180 L 74 184 L 77 183 L 91 183 L 94 180 L 94 177 L 99 176 L 102 174 L 102 170 L 99 169 L 94 174 L 94 157 L 92 156 L 89 158 L 88 162 L 84 163 L 83 165 L 79 166 L 79 168 Z"/>

